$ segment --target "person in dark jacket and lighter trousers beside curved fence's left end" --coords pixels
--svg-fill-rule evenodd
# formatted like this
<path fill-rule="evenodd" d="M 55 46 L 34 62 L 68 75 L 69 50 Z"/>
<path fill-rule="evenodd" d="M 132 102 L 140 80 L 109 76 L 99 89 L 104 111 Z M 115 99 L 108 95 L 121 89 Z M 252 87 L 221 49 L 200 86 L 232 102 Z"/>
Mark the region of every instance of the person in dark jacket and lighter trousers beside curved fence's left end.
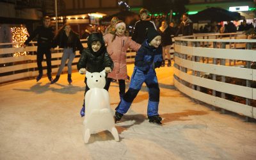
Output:
<path fill-rule="evenodd" d="M 172 29 L 168 27 L 166 20 L 163 20 L 162 26 L 159 28 L 159 32 L 162 36 L 162 46 L 163 46 L 163 62 L 161 66 L 164 67 L 164 60 L 165 60 L 165 54 L 166 54 L 168 58 L 167 66 L 170 67 L 172 65 L 171 54 L 170 54 L 170 49 L 172 45 L 171 36 L 175 35 L 175 33 L 173 33 Z"/>

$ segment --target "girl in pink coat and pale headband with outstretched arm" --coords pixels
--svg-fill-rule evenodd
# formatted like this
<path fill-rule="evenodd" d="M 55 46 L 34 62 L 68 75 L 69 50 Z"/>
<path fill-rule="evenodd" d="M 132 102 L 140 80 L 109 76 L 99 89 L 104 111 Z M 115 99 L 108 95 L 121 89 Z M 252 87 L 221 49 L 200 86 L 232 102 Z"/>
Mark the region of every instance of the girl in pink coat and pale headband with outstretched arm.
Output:
<path fill-rule="evenodd" d="M 138 51 L 141 45 L 137 44 L 129 36 L 125 36 L 125 23 L 119 20 L 115 24 L 115 34 L 108 33 L 104 35 L 104 41 L 107 44 L 107 50 L 114 62 L 114 68 L 108 74 L 106 82 L 106 90 L 108 90 L 111 80 L 117 79 L 119 83 L 119 95 L 122 97 L 125 93 L 125 79 L 127 79 L 126 51 L 129 47 L 134 51 Z"/>

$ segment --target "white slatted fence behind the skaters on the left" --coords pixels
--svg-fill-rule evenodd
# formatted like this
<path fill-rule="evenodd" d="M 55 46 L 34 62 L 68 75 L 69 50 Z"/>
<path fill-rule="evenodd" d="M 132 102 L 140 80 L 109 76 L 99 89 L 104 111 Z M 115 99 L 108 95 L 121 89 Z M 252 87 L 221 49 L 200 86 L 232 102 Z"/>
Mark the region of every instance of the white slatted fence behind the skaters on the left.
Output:
<path fill-rule="evenodd" d="M 84 47 L 87 47 L 86 40 L 81 40 Z M 24 47 L 12 47 L 15 43 L 0 44 L 0 83 L 13 81 L 17 79 L 24 79 L 29 77 L 38 76 L 37 64 L 36 64 L 36 42 L 31 42 L 29 46 Z M 61 56 L 63 49 L 52 49 L 52 73 L 58 71 L 58 67 L 61 63 Z M 15 52 L 28 52 L 26 56 L 13 56 Z M 134 61 L 136 52 L 131 50 L 127 51 L 127 63 Z M 72 69 L 77 70 L 77 62 L 79 61 L 80 54 L 76 51 L 76 58 L 72 63 Z M 45 59 L 45 56 L 44 56 Z M 46 61 L 42 63 L 44 68 L 44 75 L 46 74 Z M 63 69 L 63 72 L 67 71 L 67 67 Z"/>

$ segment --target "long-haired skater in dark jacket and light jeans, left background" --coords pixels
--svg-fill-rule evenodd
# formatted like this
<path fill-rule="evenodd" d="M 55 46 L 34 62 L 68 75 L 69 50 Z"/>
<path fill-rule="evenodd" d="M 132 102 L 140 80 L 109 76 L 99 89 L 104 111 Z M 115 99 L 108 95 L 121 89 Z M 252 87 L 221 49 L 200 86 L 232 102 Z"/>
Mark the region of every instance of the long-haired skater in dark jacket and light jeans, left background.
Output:
<path fill-rule="evenodd" d="M 60 74 L 65 67 L 65 63 L 68 60 L 68 83 L 72 83 L 72 61 L 76 56 L 76 50 L 83 51 L 84 47 L 79 40 L 79 36 L 72 31 L 69 24 L 65 24 L 59 31 L 53 40 L 53 47 L 63 48 L 63 54 L 61 58 L 61 65 L 58 69 L 55 79 L 51 82 L 56 83 L 60 79 Z"/>

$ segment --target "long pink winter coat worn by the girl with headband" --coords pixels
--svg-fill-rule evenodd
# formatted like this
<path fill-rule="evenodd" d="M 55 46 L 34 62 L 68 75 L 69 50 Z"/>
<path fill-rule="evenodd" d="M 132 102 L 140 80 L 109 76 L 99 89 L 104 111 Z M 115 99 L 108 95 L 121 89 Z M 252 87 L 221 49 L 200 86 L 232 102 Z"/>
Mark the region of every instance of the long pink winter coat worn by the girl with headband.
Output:
<path fill-rule="evenodd" d="M 108 53 L 114 62 L 114 68 L 111 73 L 108 74 L 109 78 L 113 79 L 127 79 L 127 67 L 126 67 L 126 51 L 129 47 L 134 51 L 138 51 L 141 45 L 137 44 L 129 36 L 116 35 L 113 40 L 113 34 L 108 33 L 104 35 L 104 41 L 107 46 Z"/>

